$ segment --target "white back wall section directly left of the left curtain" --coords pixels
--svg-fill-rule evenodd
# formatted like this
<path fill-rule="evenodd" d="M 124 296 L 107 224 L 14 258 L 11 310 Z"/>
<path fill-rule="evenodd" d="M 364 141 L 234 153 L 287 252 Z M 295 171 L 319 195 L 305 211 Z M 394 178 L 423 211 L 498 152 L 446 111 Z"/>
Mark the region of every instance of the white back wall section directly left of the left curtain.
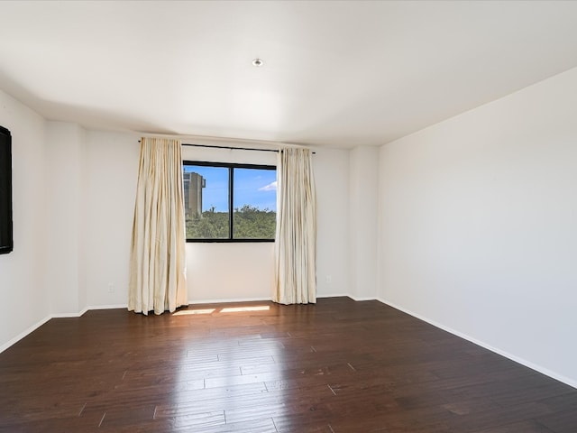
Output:
<path fill-rule="evenodd" d="M 135 134 L 87 131 L 84 242 L 89 307 L 128 303 L 138 140 Z"/>

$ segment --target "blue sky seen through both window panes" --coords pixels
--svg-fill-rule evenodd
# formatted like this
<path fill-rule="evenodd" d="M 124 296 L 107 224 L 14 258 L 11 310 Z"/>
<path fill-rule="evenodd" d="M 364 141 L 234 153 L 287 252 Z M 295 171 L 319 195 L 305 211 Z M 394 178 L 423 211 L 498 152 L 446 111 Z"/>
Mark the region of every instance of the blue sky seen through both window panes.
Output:
<path fill-rule="evenodd" d="M 215 207 L 216 212 L 228 210 L 228 168 L 184 166 L 206 180 L 202 210 Z M 277 172 L 275 170 L 234 169 L 234 207 L 251 205 L 260 209 L 277 210 Z"/>

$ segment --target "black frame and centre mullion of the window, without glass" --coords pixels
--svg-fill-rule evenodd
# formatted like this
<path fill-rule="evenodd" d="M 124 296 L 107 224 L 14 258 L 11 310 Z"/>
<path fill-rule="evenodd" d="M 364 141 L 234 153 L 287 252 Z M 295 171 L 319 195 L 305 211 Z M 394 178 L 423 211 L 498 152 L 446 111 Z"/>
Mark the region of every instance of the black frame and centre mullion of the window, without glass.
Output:
<path fill-rule="evenodd" d="M 268 164 L 245 164 L 237 162 L 213 162 L 213 161 L 182 161 L 182 172 L 186 166 L 217 167 L 228 169 L 228 237 L 227 238 L 189 238 L 187 244 L 246 244 L 246 243 L 266 243 L 275 242 L 275 238 L 234 238 L 234 169 L 252 170 L 277 170 L 276 165 Z M 275 211 L 276 213 L 276 211 Z"/>

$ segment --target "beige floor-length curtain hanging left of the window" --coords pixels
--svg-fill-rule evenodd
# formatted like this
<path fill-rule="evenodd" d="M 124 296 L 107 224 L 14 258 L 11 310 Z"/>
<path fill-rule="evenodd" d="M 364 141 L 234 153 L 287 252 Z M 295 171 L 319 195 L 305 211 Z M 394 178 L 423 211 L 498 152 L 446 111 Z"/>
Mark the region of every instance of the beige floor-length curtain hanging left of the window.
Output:
<path fill-rule="evenodd" d="M 188 304 L 180 149 L 178 140 L 141 141 L 128 292 L 136 313 Z"/>

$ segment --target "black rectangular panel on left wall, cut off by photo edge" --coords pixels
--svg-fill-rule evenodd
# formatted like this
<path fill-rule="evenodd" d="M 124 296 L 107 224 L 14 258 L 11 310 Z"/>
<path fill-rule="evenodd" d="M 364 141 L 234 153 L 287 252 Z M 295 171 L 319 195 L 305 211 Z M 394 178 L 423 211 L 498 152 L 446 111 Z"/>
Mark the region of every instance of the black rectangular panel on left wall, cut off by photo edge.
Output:
<path fill-rule="evenodd" d="M 12 230 L 12 135 L 0 126 L 0 254 L 14 249 Z"/>

